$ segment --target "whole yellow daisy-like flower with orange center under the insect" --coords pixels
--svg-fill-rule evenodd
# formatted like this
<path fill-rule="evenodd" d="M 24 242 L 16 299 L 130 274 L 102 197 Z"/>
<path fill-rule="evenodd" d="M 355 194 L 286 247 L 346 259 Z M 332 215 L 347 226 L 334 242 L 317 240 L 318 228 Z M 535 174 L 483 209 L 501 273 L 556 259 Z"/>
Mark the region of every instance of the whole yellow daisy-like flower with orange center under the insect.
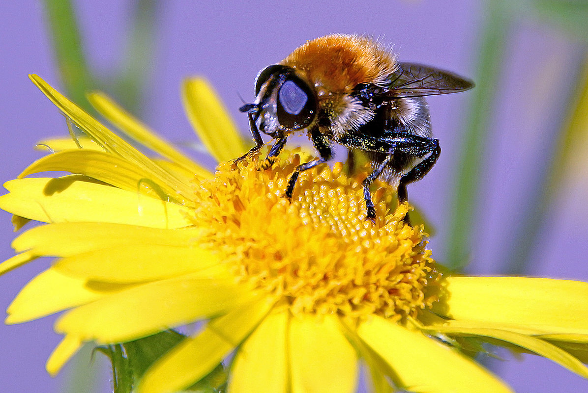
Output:
<path fill-rule="evenodd" d="M 403 223 L 409 206 L 389 211 L 385 185 L 375 192 L 375 223 L 363 220 L 359 179 L 340 165 L 304 172 L 290 202 L 282 193 L 303 153 L 286 153 L 266 171 L 255 159 L 225 162 L 213 175 L 92 94 L 103 116 L 161 155 L 148 158 L 32 80 L 87 135 L 44 141 L 55 152 L 6 182 L 0 197 L 17 228 L 48 223 L 14 240 L 18 254 L 0 273 L 58 258 L 22 289 L 6 319 L 68 310 L 55 325 L 65 338 L 48 360 L 51 374 L 85 341 L 122 343 L 208 320 L 136 391 L 188 387 L 234 354 L 231 393 L 353 392 L 360 364 L 376 392 L 509 392 L 472 360 L 473 339 L 588 378 L 587 283 L 444 276 L 422 226 Z M 204 82 L 186 82 L 184 102 L 219 161 L 247 150 Z M 71 175 L 26 178 L 43 171 Z"/>

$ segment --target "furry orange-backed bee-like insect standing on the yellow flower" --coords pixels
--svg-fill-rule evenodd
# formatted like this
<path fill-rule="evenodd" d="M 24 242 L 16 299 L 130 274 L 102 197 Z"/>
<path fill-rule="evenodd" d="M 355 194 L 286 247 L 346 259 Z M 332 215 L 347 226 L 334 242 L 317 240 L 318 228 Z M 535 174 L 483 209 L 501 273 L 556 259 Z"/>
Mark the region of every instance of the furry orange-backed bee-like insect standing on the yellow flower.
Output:
<path fill-rule="evenodd" d="M 424 96 L 462 92 L 473 83 L 456 74 L 396 56 L 366 37 L 333 34 L 307 41 L 288 57 L 261 70 L 255 101 L 240 107 L 248 113 L 255 147 L 260 133 L 273 145 L 259 165 L 273 165 L 292 134 L 306 133 L 318 158 L 300 164 L 286 187 L 292 192 L 300 172 L 333 158 L 335 145 L 365 152 L 373 171 L 363 181 L 366 219 L 375 220 L 370 184 L 380 178 L 397 190 L 399 203 L 408 199 L 406 186 L 430 171 L 441 153 L 432 138 Z M 406 216 L 405 222 L 409 223 Z"/>

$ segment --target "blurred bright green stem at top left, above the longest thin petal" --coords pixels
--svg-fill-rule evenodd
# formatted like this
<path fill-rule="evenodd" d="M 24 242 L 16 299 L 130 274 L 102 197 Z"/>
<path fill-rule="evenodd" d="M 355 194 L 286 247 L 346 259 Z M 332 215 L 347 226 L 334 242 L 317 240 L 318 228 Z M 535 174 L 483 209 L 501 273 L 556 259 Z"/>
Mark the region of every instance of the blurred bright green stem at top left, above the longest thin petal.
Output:
<path fill-rule="evenodd" d="M 71 0 L 44 0 L 49 33 L 64 89 L 72 101 L 92 110 L 86 92 L 95 86 L 82 50 Z"/>

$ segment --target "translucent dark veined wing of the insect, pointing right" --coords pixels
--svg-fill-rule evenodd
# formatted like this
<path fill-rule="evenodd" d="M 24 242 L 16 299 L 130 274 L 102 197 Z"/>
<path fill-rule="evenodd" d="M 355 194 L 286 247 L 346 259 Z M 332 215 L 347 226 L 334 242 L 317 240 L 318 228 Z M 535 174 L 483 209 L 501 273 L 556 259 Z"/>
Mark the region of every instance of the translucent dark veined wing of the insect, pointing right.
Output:
<path fill-rule="evenodd" d="M 454 73 L 415 63 L 399 63 L 399 68 L 390 76 L 390 91 L 393 98 L 422 97 L 433 94 L 448 94 L 471 89 L 473 82 Z"/>

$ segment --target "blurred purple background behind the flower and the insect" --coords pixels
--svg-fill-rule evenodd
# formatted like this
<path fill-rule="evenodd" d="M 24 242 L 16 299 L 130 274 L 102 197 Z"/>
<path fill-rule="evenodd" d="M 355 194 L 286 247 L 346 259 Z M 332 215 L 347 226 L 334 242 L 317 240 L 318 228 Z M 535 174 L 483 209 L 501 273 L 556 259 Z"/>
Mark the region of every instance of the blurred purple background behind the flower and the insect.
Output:
<path fill-rule="evenodd" d="M 481 2 L 165 2 L 158 16 L 158 34 L 146 102 L 141 118 L 177 143 L 193 141 L 183 115 L 179 84 L 183 77 L 201 74 L 218 89 L 230 113 L 247 133 L 238 112 L 241 101 L 252 99 L 259 69 L 278 62 L 305 40 L 332 32 L 366 33 L 393 43 L 400 59 L 454 70 L 475 72 L 477 44 L 483 21 Z M 163 4 L 163 3 L 162 3 Z M 115 69 L 128 33 L 131 1 L 76 2 L 89 62 L 99 76 Z M 5 2 L 0 13 L 0 180 L 14 178 L 41 153 L 36 141 L 66 135 L 64 118 L 29 82 L 38 73 L 61 87 L 39 1 Z M 544 160 L 575 75 L 582 47 L 557 28 L 532 16 L 517 19 L 509 33 L 506 63 L 499 85 L 500 99 L 492 120 L 494 136 L 484 162 L 485 185 L 477 223 L 471 271 L 498 274 L 505 247 L 514 236 L 509 226 L 520 220 L 517 211 L 528 200 Z M 450 190 L 455 179 L 455 155 L 471 93 L 431 97 L 433 129 L 443 154 L 419 184 L 410 187 L 411 200 L 421 206 L 437 228 L 431 240 L 434 256 L 442 259 L 447 242 Z M 564 97 L 564 98 L 562 98 Z M 490 105 L 491 103 L 489 103 Z M 534 275 L 588 280 L 586 252 L 588 210 L 583 204 L 582 171 L 577 184 L 562 192 L 536 248 Z M 575 188 L 574 188 L 575 187 Z M 585 188 L 584 188 L 585 189 Z M 12 256 L 10 216 L 0 212 L 0 259 Z M 47 261 L 29 264 L 0 277 L 0 309 L 5 309 Z M 585 311 L 585 310 L 584 310 Z M 44 363 L 59 336 L 52 333 L 55 317 L 16 326 L 0 325 L 0 391 L 61 391 L 64 375 L 49 377 Z M 517 392 L 585 391 L 588 382 L 538 357 L 497 365 L 497 372 Z M 101 356 L 98 356 L 102 360 Z M 89 362 L 84 358 L 82 362 Z M 105 384 L 103 391 L 108 391 Z"/>

